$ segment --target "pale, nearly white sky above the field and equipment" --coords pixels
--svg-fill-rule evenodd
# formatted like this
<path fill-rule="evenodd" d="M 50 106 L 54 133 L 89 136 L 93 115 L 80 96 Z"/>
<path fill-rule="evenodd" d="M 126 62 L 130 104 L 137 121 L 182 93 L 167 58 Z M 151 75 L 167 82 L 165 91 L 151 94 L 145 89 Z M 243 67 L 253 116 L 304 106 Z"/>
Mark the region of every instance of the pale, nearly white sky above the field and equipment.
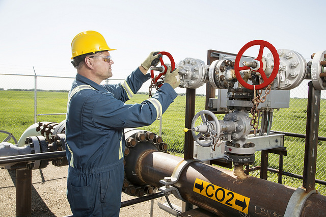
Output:
<path fill-rule="evenodd" d="M 325 50 L 325 1 L 21 1 L 0 0 L 0 67 L 42 68 L 75 76 L 71 41 L 87 30 L 111 48 L 113 78 L 124 78 L 151 51 L 176 63 L 207 60 L 207 50 L 237 53 L 252 40 L 295 50 L 307 61 Z M 249 54 L 256 57 L 257 53 Z M 0 68 L 1 72 L 1 68 Z"/>

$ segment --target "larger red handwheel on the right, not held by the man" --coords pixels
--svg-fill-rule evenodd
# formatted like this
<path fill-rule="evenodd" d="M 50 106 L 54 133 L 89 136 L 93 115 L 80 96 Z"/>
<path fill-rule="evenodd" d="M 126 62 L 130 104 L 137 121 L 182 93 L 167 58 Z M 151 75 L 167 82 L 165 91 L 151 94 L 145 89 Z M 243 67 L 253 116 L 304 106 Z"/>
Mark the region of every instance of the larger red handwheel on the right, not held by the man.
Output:
<path fill-rule="evenodd" d="M 277 53 L 277 50 L 275 49 L 275 47 L 273 45 L 271 45 L 270 43 L 268 43 L 267 41 L 263 41 L 263 40 L 255 40 L 255 41 L 251 41 L 248 42 L 246 45 L 244 45 L 240 51 L 238 52 L 238 55 L 235 58 L 235 63 L 234 63 L 234 72 L 235 72 L 235 76 L 238 79 L 238 82 L 245 88 L 249 89 L 249 90 L 254 90 L 254 86 L 248 84 L 247 82 L 245 82 L 241 75 L 240 75 L 240 71 L 241 70 L 246 70 L 246 69 L 250 69 L 249 66 L 239 66 L 240 63 L 240 59 L 244 53 L 244 51 L 246 51 L 249 47 L 252 47 L 254 45 L 260 45 L 259 48 L 259 53 L 257 58 L 255 58 L 255 60 L 259 61 L 260 67 L 257 70 L 257 72 L 259 72 L 259 74 L 261 75 L 262 79 L 263 79 L 263 83 L 260 85 L 256 85 L 255 89 L 259 90 L 262 89 L 264 87 L 267 87 L 271 82 L 273 82 L 274 78 L 276 77 L 279 68 L 280 68 L 280 57 L 279 54 Z M 271 54 L 273 55 L 274 58 L 274 68 L 273 71 L 271 72 L 270 76 L 267 77 L 264 70 L 263 70 L 263 62 L 262 62 L 262 57 L 263 57 L 263 50 L 264 47 L 267 47 Z"/>

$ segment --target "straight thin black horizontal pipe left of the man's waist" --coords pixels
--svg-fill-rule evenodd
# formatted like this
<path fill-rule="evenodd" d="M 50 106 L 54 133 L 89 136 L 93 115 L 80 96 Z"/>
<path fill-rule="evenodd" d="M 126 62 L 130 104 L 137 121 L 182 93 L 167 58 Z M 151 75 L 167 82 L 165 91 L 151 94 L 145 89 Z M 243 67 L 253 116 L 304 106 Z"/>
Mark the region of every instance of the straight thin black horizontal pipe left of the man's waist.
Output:
<path fill-rule="evenodd" d="M 36 154 L 23 154 L 9 157 L 0 157 L 0 165 L 12 164 L 18 162 L 28 162 L 34 160 L 46 160 L 66 157 L 66 151 L 53 151 Z"/>

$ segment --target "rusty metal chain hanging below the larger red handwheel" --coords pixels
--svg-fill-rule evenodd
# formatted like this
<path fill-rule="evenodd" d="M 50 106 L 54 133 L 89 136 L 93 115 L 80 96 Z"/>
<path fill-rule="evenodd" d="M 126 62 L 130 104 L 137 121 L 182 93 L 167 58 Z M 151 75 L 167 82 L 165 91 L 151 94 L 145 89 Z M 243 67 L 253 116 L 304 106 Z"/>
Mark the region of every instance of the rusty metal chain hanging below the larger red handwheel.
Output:
<path fill-rule="evenodd" d="M 265 95 L 263 97 L 260 98 L 263 90 L 260 89 L 258 90 L 257 92 L 257 95 L 256 95 L 256 86 L 254 85 L 254 98 L 253 98 L 253 107 L 251 108 L 251 114 L 253 116 L 253 118 L 251 119 L 250 121 L 250 125 L 254 128 L 254 133 L 256 134 L 257 133 L 257 128 L 258 128 L 258 114 L 259 114 L 259 111 L 258 111 L 258 105 L 260 102 L 264 102 L 266 100 L 266 96 L 270 93 L 270 87 L 271 87 L 271 84 L 273 84 L 273 82 L 271 82 L 266 90 L 265 90 Z"/>

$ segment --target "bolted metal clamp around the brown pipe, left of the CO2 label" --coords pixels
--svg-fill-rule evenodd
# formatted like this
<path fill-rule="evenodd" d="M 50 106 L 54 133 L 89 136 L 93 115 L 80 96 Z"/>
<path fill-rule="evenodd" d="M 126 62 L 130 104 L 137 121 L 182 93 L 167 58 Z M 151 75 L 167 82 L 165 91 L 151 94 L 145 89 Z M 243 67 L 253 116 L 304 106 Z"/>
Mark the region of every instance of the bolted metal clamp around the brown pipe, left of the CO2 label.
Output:
<path fill-rule="evenodd" d="M 188 164 L 191 164 L 192 162 L 202 162 L 202 161 L 199 160 L 199 159 L 190 159 L 190 160 L 182 160 L 182 161 L 180 161 L 179 164 L 174 168 L 171 177 L 165 177 L 164 179 L 159 180 L 160 183 L 165 185 L 165 186 L 162 186 L 162 187 L 158 188 L 159 191 L 163 192 L 165 195 L 169 195 L 170 193 L 172 193 L 179 200 L 182 200 L 182 201 L 186 202 L 186 200 L 184 200 L 181 197 L 178 189 L 176 187 L 171 186 L 171 185 L 176 183 L 179 180 L 183 169 Z"/>

